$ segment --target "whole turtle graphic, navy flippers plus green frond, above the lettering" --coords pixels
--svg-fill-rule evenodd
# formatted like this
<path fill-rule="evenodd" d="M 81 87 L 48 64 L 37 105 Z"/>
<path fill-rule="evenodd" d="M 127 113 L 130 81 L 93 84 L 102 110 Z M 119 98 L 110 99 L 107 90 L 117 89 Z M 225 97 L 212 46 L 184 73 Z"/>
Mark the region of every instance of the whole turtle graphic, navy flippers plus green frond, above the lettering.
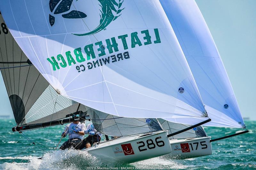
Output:
<path fill-rule="evenodd" d="M 76 0 L 78 1 L 78 0 Z M 116 20 L 124 8 L 121 8 L 124 0 L 98 0 L 100 2 L 100 24 L 89 33 L 74 34 L 77 36 L 92 35 L 104 30 L 112 21 Z M 70 11 L 73 0 L 50 0 L 49 8 L 51 14 L 49 14 L 49 23 L 51 26 L 55 23 L 54 15 L 62 14 L 63 18 L 76 19 L 86 18 L 87 15 L 82 11 L 72 10 Z M 73 5 L 74 6 L 74 5 Z M 75 6 L 74 6 L 75 7 Z M 75 8 L 76 9 L 76 8 Z M 53 13 L 52 13 L 53 12 Z M 89 17 L 89 14 L 88 14 Z M 86 20 L 84 20 L 86 23 Z"/>

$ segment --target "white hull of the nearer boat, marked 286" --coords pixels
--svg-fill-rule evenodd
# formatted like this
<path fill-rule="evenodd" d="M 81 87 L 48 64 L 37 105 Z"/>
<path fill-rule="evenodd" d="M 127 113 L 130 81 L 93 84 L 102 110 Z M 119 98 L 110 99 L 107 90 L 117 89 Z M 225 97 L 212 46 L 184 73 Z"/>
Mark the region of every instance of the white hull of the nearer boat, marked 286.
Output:
<path fill-rule="evenodd" d="M 120 137 L 94 144 L 84 151 L 110 161 L 132 163 L 170 153 L 171 145 L 167 135 L 168 131 L 160 131 Z"/>

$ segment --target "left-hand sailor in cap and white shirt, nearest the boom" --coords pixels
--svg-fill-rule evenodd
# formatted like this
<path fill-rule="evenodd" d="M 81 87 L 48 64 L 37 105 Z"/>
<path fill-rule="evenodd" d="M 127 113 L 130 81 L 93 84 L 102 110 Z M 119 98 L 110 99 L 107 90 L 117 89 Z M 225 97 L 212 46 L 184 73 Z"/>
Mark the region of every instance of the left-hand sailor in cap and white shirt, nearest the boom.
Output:
<path fill-rule="evenodd" d="M 79 122 L 79 115 L 73 115 L 72 118 L 74 118 L 74 120 L 77 119 L 77 121 L 69 123 L 64 132 L 61 134 L 62 137 L 66 137 L 68 131 L 68 140 L 60 146 L 61 150 L 70 148 L 72 146 L 75 149 L 80 149 L 82 146 L 86 126 L 84 123 Z"/>

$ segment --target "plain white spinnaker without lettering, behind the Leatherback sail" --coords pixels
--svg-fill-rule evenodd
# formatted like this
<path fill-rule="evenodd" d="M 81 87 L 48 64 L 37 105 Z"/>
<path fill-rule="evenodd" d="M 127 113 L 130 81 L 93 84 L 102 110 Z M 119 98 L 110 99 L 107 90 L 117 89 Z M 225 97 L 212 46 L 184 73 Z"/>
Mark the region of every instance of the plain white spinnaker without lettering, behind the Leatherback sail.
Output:
<path fill-rule="evenodd" d="M 196 2 L 160 2 L 186 56 L 207 114 L 212 119 L 204 126 L 244 128 L 227 72 Z M 166 120 L 180 122 L 179 119 Z M 189 121 L 194 124 L 201 119 L 191 117 Z"/>

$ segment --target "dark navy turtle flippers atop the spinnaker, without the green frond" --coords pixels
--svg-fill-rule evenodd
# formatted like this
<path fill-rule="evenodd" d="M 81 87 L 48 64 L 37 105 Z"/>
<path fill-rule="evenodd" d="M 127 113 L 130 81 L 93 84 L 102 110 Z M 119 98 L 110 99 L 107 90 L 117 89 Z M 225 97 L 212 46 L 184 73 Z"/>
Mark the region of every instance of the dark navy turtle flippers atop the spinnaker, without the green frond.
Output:
<path fill-rule="evenodd" d="M 78 0 L 76 0 L 78 1 Z M 50 0 L 49 7 L 53 14 L 61 14 L 68 12 L 72 5 L 73 0 Z M 55 10 L 54 10 L 55 9 Z M 63 18 L 85 18 L 87 15 L 84 12 L 72 10 L 68 13 L 61 15 Z M 55 17 L 49 14 L 50 25 L 53 26 L 55 23 Z"/>

